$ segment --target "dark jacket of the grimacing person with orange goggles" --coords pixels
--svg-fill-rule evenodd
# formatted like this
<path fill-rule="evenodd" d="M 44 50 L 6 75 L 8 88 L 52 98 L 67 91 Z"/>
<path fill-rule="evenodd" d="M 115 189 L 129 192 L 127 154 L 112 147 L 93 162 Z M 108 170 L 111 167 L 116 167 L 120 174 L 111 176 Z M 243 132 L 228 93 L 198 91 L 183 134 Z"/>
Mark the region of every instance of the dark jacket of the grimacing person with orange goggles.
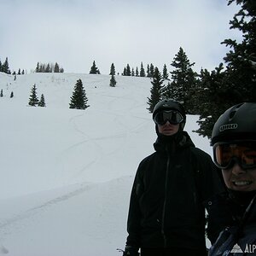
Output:
<path fill-rule="evenodd" d="M 226 192 L 208 201 L 207 210 L 212 213 L 214 225 L 223 230 L 211 247 L 210 256 L 256 255 L 255 191 L 242 197 L 237 201 Z"/>

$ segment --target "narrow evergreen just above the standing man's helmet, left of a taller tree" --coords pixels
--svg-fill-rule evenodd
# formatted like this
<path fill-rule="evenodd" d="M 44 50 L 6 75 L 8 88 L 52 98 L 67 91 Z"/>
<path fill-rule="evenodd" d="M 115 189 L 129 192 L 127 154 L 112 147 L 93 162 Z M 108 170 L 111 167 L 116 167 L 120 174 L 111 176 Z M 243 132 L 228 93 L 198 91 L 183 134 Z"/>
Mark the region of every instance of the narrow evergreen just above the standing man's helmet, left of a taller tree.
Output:
<path fill-rule="evenodd" d="M 162 88 L 163 88 L 163 82 L 164 79 L 157 67 L 154 67 L 154 76 L 153 76 L 153 81 L 151 81 L 152 88 L 150 90 L 150 97 L 148 97 L 148 105 L 149 107 L 147 108 L 150 113 L 153 113 L 154 106 L 156 105 L 157 102 L 160 102 L 162 99 Z"/>

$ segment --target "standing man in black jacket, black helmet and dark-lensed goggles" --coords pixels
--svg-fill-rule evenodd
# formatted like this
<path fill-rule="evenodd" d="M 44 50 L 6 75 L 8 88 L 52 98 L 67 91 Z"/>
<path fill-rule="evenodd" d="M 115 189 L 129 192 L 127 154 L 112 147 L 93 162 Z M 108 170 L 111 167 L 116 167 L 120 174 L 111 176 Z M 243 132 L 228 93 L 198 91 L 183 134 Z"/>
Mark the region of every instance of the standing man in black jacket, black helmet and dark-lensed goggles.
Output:
<path fill-rule="evenodd" d="M 155 152 L 137 168 L 123 255 L 137 256 L 139 248 L 142 256 L 207 255 L 203 202 L 222 189 L 217 168 L 183 131 L 180 102 L 158 102 L 153 119 Z"/>

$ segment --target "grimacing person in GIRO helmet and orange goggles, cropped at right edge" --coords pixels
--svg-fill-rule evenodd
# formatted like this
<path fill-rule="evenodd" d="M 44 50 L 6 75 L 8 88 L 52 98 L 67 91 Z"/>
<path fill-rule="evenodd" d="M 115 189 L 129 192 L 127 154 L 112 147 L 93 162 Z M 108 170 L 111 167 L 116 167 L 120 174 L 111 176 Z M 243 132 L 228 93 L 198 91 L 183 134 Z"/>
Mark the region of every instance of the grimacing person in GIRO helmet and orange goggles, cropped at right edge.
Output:
<path fill-rule="evenodd" d="M 212 130 L 214 163 L 226 191 L 208 201 L 222 228 L 209 255 L 256 255 L 256 102 L 227 109 Z"/>

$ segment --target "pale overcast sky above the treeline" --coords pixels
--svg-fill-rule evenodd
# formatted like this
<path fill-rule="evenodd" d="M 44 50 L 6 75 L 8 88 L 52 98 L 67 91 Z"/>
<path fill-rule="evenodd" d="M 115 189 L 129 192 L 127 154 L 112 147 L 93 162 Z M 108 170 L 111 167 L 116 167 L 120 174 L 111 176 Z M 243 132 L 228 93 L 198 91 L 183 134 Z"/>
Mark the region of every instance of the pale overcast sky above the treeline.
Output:
<path fill-rule="evenodd" d="M 0 60 L 30 73 L 58 62 L 66 73 L 108 74 L 127 63 L 171 69 L 182 47 L 194 70 L 212 70 L 241 38 L 229 21 L 239 9 L 226 0 L 0 0 Z"/>

